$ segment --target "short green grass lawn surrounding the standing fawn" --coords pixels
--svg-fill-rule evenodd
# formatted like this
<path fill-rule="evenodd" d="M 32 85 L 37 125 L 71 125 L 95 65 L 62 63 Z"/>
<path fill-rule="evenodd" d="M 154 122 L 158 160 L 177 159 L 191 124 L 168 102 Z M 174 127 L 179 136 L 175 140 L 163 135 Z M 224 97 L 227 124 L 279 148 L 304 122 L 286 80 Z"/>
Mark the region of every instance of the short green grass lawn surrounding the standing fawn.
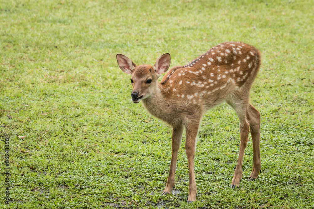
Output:
<path fill-rule="evenodd" d="M 313 11 L 311 0 L 0 0 L 0 208 L 313 208 Z M 251 103 L 262 116 L 263 173 L 247 181 L 249 137 L 241 187 L 230 188 L 240 131 L 222 104 L 203 117 L 198 197 L 187 204 L 185 134 L 176 190 L 162 196 L 172 129 L 131 102 L 116 53 L 153 65 L 169 52 L 171 66 L 185 65 L 225 41 L 262 54 Z"/>

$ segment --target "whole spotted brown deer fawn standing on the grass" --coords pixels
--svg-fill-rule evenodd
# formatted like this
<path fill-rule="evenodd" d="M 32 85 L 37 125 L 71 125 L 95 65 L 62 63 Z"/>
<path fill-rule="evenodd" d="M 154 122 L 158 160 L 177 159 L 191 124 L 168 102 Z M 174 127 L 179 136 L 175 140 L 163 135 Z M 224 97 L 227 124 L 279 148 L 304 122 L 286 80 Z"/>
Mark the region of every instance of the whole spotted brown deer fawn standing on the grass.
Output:
<path fill-rule="evenodd" d="M 170 171 L 163 194 L 171 194 L 175 186 L 178 150 L 183 129 L 186 129 L 185 150 L 189 164 L 188 202 L 196 200 L 194 155 L 196 137 L 203 114 L 226 101 L 240 120 L 240 151 L 231 187 L 239 187 L 242 161 L 249 130 L 253 140 L 253 170 L 249 180 L 261 171 L 260 113 L 249 103 L 249 93 L 261 60 L 259 51 L 241 42 L 226 42 L 208 50 L 184 66 L 175 66 L 159 83 L 157 79 L 170 66 L 170 54 L 161 55 L 154 66 L 135 65 L 122 54 L 116 59 L 120 69 L 132 75 L 132 101 L 143 102 L 153 116 L 169 123 L 172 128 Z"/>

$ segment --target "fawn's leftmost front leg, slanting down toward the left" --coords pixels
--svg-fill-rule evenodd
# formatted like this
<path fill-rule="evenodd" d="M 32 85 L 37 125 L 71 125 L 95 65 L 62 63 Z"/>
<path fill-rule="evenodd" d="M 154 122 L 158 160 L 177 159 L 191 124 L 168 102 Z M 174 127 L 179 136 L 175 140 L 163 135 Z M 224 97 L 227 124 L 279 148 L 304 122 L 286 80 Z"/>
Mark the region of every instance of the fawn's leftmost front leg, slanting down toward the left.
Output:
<path fill-rule="evenodd" d="M 175 186 L 175 175 L 176 175 L 176 161 L 178 157 L 178 151 L 182 140 L 183 126 L 178 126 L 172 130 L 172 154 L 171 164 L 169 170 L 169 176 L 166 184 L 166 188 L 163 195 L 171 194 L 172 189 Z"/>

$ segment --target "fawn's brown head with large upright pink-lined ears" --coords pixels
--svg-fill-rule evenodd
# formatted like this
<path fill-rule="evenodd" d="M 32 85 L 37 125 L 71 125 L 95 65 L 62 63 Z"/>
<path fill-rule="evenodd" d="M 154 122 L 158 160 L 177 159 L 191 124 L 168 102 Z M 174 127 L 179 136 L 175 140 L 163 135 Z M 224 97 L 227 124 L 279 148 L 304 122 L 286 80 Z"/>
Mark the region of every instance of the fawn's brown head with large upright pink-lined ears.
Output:
<path fill-rule="evenodd" d="M 116 59 L 120 69 L 131 75 L 131 84 L 133 91 L 131 93 L 134 103 L 150 97 L 158 85 L 157 79 L 165 73 L 170 66 L 170 54 L 161 55 L 154 66 L 138 65 L 136 66 L 130 58 L 125 55 L 117 54 Z"/>

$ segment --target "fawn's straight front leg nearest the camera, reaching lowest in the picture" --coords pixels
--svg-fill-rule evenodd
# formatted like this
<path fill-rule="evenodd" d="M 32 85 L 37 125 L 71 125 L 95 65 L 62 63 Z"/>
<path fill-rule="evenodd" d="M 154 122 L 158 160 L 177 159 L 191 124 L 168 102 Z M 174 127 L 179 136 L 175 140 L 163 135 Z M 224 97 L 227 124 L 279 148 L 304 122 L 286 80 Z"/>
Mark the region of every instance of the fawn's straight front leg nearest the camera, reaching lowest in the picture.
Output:
<path fill-rule="evenodd" d="M 185 152 L 189 163 L 189 197 L 188 203 L 196 201 L 196 183 L 194 174 L 194 155 L 196 148 L 196 136 L 198 133 L 199 121 L 197 123 L 188 124 L 186 128 L 187 139 L 185 141 Z"/>

